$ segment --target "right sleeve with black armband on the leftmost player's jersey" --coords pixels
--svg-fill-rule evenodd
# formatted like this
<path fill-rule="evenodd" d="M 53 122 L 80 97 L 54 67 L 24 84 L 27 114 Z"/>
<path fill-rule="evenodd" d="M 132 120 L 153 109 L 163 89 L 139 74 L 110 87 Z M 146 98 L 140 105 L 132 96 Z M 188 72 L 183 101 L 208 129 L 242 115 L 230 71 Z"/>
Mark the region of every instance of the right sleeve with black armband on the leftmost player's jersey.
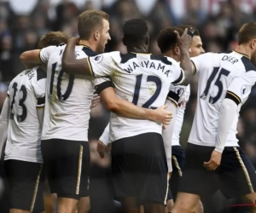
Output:
<path fill-rule="evenodd" d="M 44 107 L 46 90 L 46 72 L 41 67 L 37 68 L 37 78 L 33 80 L 33 89 L 38 100 L 37 107 Z"/>

